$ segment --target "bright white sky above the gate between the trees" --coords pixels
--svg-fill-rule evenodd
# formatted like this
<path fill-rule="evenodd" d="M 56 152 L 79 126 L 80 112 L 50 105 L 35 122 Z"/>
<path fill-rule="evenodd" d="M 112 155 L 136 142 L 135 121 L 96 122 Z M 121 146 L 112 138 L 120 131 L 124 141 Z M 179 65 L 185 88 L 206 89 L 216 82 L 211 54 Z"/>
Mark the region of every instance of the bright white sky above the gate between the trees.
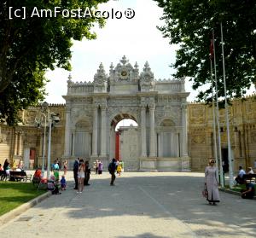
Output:
<path fill-rule="evenodd" d="M 162 9 L 153 0 L 110 0 L 101 4 L 100 9 L 121 11 L 123 15 L 126 9 L 132 9 L 135 16 L 132 19 L 108 19 L 104 28 L 93 30 L 97 34 L 96 40 L 73 42 L 72 71 L 57 68 L 46 73 L 50 80 L 46 85 L 46 102 L 65 103 L 62 96 L 67 94 L 69 74 L 74 82 L 93 81 L 101 62 L 108 73 L 110 64 L 117 65 L 123 55 L 132 66 L 137 62 L 140 72 L 148 61 L 155 79 L 172 78 L 174 69 L 170 65 L 175 61 L 177 45 L 170 45 L 156 28 L 164 22 L 160 20 Z M 188 91 L 190 87 L 186 84 Z M 191 100 L 193 96 L 189 96 Z"/>

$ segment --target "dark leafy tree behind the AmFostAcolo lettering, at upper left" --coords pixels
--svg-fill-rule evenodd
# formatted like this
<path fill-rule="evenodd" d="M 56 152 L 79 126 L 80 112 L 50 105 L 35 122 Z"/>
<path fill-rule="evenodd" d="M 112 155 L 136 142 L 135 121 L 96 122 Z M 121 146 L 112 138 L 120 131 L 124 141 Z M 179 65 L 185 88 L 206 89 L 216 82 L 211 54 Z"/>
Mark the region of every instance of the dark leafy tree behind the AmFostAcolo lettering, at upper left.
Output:
<path fill-rule="evenodd" d="M 44 72 L 61 67 L 71 69 L 72 40 L 94 39 L 91 28 L 104 20 L 90 17 L 88 9 L 108 0 L 3 0 L 0 2 L 0 120 L 9 125 L 17 122 L 17 113 L 44 99 Z M 26 19 L 15 16 L 15 10 L 26 9 Z M 60 13 L 54 15 L 55 7 Z M 41 9 L 53 15 L 39 17 Z M 87 17 L 63 17 L 72 9 L 81 9 Z M 87 10 L 87 11 L 86 11 Z M 32 13 L 34 15 L 32 16 Z M 64 12 L 63 12 L 64 13 Z M 40 15 L 41 16 L 41 15 Z M 65 15 L 67 16 L 67 15 Z M 84 15 L 81 15 L 84 16 Z M 12 18 L 12 19 L 11 19 Z"/>

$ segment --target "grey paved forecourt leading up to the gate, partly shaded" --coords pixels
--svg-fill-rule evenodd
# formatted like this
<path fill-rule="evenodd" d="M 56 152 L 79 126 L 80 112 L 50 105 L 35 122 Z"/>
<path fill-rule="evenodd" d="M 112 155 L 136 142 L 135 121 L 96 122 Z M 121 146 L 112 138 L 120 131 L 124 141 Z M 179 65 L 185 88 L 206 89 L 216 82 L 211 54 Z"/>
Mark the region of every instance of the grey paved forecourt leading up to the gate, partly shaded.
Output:
<path fill-rule="evenodd" d="M 220 192 L 210 206 L 202 173 L 125 172 L 92 175 L 83 194 L 68 188 L 0 227 L 9 237 L 256 237 L 256 202 Z"/>

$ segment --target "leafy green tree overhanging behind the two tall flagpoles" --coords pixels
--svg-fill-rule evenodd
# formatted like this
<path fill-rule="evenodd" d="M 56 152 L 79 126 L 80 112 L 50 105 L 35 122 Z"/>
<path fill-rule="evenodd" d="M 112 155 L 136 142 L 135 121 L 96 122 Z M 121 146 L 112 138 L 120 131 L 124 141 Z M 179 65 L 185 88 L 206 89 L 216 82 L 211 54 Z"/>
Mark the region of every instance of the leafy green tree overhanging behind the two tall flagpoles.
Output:
<path fill-rule="evenodd" d="M 220 22 L 224 29 L 227 95 L 242 96 L 256 71 L 256 2 L 254 0 L 154 0 L 163 8 L 165 26 L 158 27 L 170 44 L 178 44 L 174 77 L 190 77 L 193 89 L 210 83 L 210 38 L 215 34 L 218 94 L 224 96 Z M 199 100 L 211 101 L 212 89 Z"/>

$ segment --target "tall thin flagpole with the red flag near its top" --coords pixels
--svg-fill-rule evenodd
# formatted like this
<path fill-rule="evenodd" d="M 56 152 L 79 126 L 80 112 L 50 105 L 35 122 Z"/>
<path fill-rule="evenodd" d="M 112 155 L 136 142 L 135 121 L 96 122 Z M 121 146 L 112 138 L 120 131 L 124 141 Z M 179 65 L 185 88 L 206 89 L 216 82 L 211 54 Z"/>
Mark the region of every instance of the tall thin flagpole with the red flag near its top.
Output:
<path fill-rule="evenodd" d="M 223 188 L 224 173 L 223 173 L 223 166 L 222 166 L 221 138 L 220 138 L 220 126 L 219 126 L 219 114 L 218 114 L 218 80 L 217 80 L 217 71 L 216 71 L 214 31 L 212 31 L 212 40 L 213 40 L 214 79 L 215 79 L 215 92 L 216 92 L 216 115 L 217 115 L 217 127 L 218 127 L 218 158 L 219 158 L 219 171 L 220 171 L 220 186 Z"/>

